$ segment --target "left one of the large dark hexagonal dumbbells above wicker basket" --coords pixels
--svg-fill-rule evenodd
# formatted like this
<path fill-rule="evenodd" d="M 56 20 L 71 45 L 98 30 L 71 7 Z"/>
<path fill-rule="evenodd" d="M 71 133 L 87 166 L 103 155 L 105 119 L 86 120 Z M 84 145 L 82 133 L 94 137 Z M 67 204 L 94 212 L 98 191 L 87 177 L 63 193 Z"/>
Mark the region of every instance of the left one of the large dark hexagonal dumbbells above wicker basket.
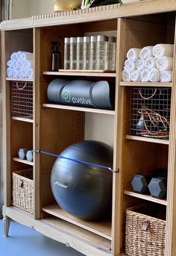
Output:
<path fill-rule="evenodd" d="M 137 173 L 133 176 L 131 186 L 134 192 L 144 194 L 148 192 L 148 183 L 151 180 L 149 175 Z"/>

